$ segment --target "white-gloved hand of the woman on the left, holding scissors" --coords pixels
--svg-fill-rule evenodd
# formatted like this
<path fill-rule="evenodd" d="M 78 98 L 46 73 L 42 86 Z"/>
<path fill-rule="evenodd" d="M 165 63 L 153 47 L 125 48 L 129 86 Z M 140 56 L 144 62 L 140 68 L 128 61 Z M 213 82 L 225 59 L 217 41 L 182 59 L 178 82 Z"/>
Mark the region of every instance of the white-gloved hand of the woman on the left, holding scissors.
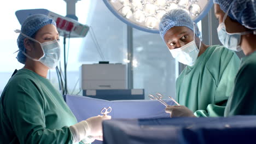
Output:
<path fill-rule="evenodd" d="M 85 121 L 71 125 L 69 129 L 73 134 L 73 142 L 79 142 L 89 137 L 90 139 L 95 137 L 97 140 L 102 140 L 102 121 L 106 119 L 111 119 L 111 116 L 90 117 Z"/>

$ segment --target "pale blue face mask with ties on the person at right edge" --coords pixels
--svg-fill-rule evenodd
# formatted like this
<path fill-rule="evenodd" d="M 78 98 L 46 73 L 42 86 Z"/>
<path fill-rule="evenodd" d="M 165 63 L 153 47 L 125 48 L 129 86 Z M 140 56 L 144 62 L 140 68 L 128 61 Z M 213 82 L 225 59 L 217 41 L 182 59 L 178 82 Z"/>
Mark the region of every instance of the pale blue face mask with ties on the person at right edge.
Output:
<path fill-rule="evenodd" d="M 231 7 L 229 7 L 230 9 Z M 248 33 L 253 33 L 253 31 L 247 31 L 247 32 L 241 32 L 241 33 L 228 33 L 226 31 L 226 27 L 225 27 L 225 20 L 226 20 L 226 16 L 229 13 L 229 9 L 226 11 L 224 17 L 223 17 L 223 22 L 219 24 L 218 28 L 217 28 L 217 32 L 218 32 L 218 37 L 220 42 L 228 49 L 232 50 L 232 51 L 241 51 L 241 35 L 245 35 Z"/>

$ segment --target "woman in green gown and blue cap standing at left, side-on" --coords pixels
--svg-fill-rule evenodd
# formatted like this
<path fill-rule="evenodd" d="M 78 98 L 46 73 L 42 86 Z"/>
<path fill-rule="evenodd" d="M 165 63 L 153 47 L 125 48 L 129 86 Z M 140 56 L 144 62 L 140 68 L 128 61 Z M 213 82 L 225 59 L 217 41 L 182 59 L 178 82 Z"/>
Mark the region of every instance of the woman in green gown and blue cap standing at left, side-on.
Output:
<path fill-rule="evenodd" d="M 19 31 L 17 31 L 19 32 Z M 18 37 L 17 59 L 25 64 L 8 81 L 0 99 L 0 143 L 90 143 L 102 140 L 96 116 L 77 123 L 62 95 L 46 79 L 60 61 L 59 33 L 53 19 L 27 17 Z"/>

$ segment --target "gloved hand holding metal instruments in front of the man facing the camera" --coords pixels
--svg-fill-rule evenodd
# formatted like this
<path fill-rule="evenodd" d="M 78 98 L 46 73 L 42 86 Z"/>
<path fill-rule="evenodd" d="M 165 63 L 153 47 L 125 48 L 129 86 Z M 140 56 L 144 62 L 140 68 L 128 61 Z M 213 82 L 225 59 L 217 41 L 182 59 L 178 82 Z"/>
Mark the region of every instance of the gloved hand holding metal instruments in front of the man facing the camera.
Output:
<path fill-rule="evenodd" d="M 194 113 L 183 105 L 167 106 L 166 113 L 170 113 L 170 117 L 196 117 Z"/>

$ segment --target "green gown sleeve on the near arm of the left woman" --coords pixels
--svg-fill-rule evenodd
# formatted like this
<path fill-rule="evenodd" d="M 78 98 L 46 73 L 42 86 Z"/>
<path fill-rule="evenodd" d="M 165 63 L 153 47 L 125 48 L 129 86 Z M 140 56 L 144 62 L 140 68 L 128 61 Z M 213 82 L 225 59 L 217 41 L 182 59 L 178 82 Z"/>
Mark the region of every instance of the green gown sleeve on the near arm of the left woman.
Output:
<path fill-rule="evenodd" d="M 45 101 L 33 81 L 12 83 L 6 92 L 6 115 L 20 143 L 72 143 L 69 127 L 45 128 Z"/>

